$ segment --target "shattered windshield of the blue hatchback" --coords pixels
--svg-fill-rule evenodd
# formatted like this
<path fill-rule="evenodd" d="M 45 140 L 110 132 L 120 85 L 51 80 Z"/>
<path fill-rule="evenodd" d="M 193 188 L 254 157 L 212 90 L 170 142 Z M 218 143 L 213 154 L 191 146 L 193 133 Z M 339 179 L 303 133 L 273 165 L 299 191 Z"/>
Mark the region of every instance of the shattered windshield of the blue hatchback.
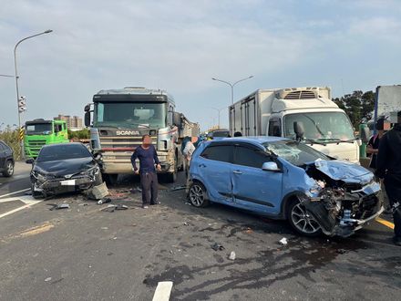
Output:
<path fill-rule="evenodd" d="M 293 165 L 303 166 L 316 160 L 330 160 L 324 153 L 295 141 L 275 141 L 263 143 L 268 152 L 289 161 Z"/>

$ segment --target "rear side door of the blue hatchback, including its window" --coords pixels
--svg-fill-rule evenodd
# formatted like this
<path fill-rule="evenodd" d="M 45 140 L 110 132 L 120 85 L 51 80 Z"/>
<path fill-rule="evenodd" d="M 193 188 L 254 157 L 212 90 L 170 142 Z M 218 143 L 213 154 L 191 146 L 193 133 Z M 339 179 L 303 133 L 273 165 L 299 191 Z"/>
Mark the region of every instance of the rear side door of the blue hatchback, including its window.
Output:
<path fill-rule="evenodd" d="M 233 145 L 228 143 L 211 143 L 200 154 L 201 180 L 213 202 L 233 202 L 232 155 Z"/>

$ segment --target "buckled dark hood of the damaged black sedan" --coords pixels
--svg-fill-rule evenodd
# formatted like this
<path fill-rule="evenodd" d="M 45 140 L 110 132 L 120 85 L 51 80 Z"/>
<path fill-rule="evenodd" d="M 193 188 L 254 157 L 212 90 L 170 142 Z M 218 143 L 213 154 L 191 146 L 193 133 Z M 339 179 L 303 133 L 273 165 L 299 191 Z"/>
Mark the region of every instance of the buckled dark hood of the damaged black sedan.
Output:
<path fill-rule="evenodd" d="M 40 172 L 43 175 L 64 177 L 80 171 L 86 171 L 95 165 L 96 162 L 92 158 L 87 157 L 60 161 L 36 162 L 33 171 Z"/>

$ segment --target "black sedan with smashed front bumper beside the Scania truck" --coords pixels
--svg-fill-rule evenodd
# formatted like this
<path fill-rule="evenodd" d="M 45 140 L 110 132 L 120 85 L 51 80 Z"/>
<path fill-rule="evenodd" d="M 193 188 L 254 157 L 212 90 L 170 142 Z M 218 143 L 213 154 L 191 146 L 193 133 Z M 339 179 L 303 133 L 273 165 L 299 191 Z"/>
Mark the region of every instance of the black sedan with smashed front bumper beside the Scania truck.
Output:
<path fill-rule="evenodd" d="M 32 163 L 34 198 L 63 192 L 84 191 L 102 183 L 97 161 L 82 143 L 46 145 Z"/>

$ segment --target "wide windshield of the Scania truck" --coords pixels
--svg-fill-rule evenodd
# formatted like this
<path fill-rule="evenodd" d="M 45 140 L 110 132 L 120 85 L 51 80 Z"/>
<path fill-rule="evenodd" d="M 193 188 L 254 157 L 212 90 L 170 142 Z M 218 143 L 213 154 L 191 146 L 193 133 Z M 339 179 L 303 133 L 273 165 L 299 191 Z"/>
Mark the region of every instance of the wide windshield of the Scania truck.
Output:
<path fill-rule="evenodd" d="M 151 129 L 166 127 L 164 102 L 97 102 L 95 127 Z"/>

